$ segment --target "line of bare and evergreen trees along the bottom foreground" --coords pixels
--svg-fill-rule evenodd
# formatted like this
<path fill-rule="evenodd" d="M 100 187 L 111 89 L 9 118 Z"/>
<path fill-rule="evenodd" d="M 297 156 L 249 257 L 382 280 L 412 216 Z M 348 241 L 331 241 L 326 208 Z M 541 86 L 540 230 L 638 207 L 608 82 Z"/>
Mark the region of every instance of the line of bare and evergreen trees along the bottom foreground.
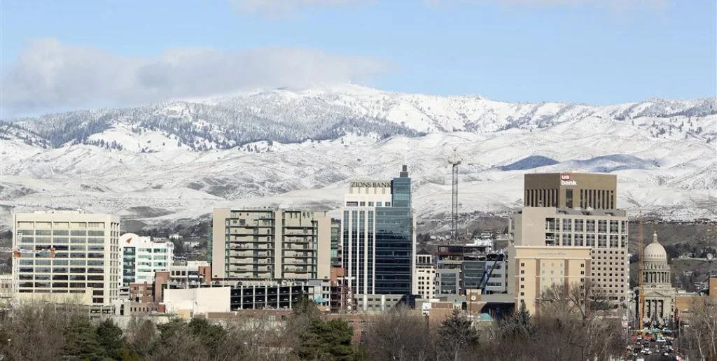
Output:
<path fill-rule="evenodd" d="M 15 305 L 0 319 L 1 360 L 614 360 L 628 334 L 604 317 L 586 287 L 547 289 L 538 315 L 525 304 L 509 317 L 474 324 L 459 310 L 440 322 L 397 308 L 364 325 L 358 340 L 344 319 L 327 319 L 308 299 L 286 319 L 204 318 L 155 324 L 133 318 L 120 329 L 79 308 Z M 680 347 L 716 360 L 717 304 L 695 304 Z"/>

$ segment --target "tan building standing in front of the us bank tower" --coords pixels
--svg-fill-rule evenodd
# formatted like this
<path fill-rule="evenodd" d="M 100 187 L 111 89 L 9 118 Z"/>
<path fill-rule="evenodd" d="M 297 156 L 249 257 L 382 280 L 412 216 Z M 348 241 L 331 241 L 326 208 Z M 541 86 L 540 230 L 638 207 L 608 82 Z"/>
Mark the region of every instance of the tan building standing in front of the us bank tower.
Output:
<path fill-rule="evenodd" d="M 508 247 L 508 294 L 515 295 L 516 309 L 525 302 L 532 314 L 540 312 L 541 295 L 555 285 L 569 288 L 590 276 L 587 247 Z"/>

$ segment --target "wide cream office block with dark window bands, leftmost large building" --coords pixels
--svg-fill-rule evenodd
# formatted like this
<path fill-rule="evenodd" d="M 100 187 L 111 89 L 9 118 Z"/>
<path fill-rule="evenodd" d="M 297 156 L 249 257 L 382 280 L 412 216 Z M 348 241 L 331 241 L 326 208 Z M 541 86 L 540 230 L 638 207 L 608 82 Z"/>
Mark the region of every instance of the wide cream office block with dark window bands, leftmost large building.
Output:
<path fill-rule="evenodd" d="M 111 306 L 118 299 L 120 221 L 109 214 L 13 215 L 15 296 Z"/>

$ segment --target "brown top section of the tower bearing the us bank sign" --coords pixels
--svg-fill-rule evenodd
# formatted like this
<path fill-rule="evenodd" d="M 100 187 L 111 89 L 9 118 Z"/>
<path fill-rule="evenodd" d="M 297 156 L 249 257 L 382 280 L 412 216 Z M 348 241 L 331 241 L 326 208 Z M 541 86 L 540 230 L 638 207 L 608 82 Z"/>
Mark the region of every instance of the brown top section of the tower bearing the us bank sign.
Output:
<path fill-rule="evenodd" d="M 617 208 L 617 175 L 531 173 L 523 183 L 526 207 Z"/>

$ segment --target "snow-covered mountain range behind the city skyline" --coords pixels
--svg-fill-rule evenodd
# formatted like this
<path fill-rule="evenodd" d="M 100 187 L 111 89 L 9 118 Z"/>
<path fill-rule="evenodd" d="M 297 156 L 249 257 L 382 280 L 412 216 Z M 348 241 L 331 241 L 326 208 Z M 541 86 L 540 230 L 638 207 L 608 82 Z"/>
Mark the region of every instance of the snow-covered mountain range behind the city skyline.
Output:
<path fill-rule="evenodd" d="M 437 97 L 355 85 L 261 90 L 0 123 L 0 215 L 85 208 L 144 223 L 218 206 L 340 206 L 349 180 L 397 175 L 420 218 L 510 211 L 523 173 L 618 175 L 618 206 L 717 218 L 717 99 L 597 107 Z"/>

